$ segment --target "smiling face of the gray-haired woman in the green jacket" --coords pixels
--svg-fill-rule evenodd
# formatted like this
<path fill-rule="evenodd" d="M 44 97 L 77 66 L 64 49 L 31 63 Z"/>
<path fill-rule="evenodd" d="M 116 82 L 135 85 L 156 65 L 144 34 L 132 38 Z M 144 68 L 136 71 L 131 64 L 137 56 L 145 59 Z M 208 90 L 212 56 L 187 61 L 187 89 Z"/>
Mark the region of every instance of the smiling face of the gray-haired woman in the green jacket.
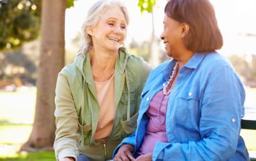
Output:
<path fill-rule="evenodd" d="M 93 48 L 118 52 L 126 36 L 125 15 L 118 6 L 107 9 L 94 27 L 87 27 Z"/>

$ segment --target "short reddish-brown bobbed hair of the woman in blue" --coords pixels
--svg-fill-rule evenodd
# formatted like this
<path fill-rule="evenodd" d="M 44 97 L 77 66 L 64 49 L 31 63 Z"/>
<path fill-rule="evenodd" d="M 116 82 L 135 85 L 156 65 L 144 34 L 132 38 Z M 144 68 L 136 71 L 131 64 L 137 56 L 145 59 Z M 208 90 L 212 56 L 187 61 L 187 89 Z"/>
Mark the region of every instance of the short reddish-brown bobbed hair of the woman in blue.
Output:
<path fill-rule="evenodd" d="M 210 1 L 171 0 L 166 4 L 164 13 L 190 26 L 190 31 L 184 37 L 188 50 L 212 52 L 221 49 L 223 38 Z"/>

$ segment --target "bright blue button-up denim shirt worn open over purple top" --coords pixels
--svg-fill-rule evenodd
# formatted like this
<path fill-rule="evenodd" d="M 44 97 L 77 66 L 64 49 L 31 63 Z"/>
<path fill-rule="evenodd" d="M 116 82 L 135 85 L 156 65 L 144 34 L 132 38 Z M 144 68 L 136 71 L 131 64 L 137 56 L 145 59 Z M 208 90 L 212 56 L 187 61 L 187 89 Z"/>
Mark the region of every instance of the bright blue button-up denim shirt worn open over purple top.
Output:
<path fill-rule="evenodd" d="M 151 71 L 141 93 L 136 132 L 123 139 L 133 155 L 143 142 L 151 98 L 167 83 L 176 60 Z M 166 142 L 156 142 L 152 160 L 249 160 L 239 136 L 244 87 L 229 60 L 217 52 L 195 53 L 180 70 L 166 113 Z"/>

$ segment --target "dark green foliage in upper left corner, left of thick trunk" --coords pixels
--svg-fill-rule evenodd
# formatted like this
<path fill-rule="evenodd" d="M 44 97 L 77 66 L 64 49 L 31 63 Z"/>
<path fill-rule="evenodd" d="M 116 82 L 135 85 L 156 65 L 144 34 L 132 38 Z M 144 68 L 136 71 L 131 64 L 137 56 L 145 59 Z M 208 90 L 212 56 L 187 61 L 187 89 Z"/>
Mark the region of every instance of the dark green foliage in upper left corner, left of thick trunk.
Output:
<path fill-rule="evenodd" d="M 35 40 L 40 31 L 40 0 L 0 1 L 0 50 Z"/>

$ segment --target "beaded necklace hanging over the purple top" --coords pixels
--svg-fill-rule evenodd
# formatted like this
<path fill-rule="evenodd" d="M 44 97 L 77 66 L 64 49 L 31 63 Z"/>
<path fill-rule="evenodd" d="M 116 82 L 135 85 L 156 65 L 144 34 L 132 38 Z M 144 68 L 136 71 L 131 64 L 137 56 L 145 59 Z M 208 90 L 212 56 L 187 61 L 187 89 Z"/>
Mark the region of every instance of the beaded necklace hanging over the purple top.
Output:
<path fill-rule="evenodd" d="M 163 89 L 163 97 L 161 99 L 161 102 L 160 102 L 160 105 L 159 105 L 159 109 L 158 109 L 158 119 L 159 119 L 159 122 L 161 124 L 164 124 L 164 120 L 165 120 L 165 116 L 164 116 L 164 120 L 161 120 L 161 116 L 160 116 L 160 109 L 162 107 L 162 102 L 164 101 L 164 97 L 169 95 L 169 93 L 171 93 L 171 86 L 172 86 L 172 83 L 173 81 L 175 80 L 175 77 L 177 75 L 177 72 L 178 72 L 178 69 L 179 69 L 179 62 L 177 62 L 175 64 L 175 67 L 173 68 L 172 70 L 172 74 L 170 75 L 169 77 L 169 80 L 167 81 L 167 83 L 164 85 L 164 89 Z"/>

